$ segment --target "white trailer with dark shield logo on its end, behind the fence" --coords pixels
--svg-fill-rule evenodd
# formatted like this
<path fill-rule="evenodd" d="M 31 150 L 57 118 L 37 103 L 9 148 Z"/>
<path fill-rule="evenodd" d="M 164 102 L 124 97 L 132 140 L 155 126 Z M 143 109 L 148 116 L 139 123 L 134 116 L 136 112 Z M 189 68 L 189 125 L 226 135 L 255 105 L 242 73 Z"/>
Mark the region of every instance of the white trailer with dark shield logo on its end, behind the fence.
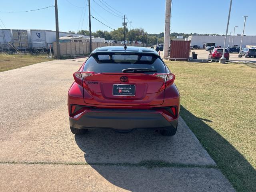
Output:
<path fill-rule="evenodd" d="M 56 31 L 31 29 L 32 48 L 35 50 L 49 50 L 52 42 L 56 41 Z M 78 36 L 78 34 L 59 32 L 59 36 Z"/>

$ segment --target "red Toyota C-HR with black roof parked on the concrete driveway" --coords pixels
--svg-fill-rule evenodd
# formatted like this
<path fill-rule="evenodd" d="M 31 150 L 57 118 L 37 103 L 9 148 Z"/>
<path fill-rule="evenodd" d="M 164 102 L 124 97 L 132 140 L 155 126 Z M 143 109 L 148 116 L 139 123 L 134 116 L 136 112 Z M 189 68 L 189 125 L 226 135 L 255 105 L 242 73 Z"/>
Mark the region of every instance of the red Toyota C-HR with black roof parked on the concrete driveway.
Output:
<path fill-rule="evenodd" d="M 68 91 L 73 134 L 95 128 L 176 133 L 180 94 L 174 74 L 155 50 L 96 48 L 73 76 L 75 82 Z"/>

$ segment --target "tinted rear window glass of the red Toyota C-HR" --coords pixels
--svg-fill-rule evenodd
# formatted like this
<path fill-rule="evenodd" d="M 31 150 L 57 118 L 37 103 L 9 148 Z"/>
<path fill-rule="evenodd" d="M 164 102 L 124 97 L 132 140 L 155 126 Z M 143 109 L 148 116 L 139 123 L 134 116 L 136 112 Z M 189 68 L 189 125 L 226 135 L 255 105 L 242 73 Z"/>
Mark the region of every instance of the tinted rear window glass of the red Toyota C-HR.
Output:
<path fill-rule="evenodd" d="M 158 73 L 166 73 L 165 64 L 158 56 L 137 54 L 94 54 L 85 62 L 83 71 L 122 73 L 127 68 L 148 68 L 157 70 Z"/>

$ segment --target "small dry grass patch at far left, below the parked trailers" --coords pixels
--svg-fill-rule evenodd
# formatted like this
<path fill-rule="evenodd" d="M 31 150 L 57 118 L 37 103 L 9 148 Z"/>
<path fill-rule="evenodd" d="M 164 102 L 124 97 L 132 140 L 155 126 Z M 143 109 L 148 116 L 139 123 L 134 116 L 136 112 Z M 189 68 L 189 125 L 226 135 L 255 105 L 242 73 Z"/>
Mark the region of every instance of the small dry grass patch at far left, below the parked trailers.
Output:
<path fill-rule="evenodd" d="M 50 60 L 47 56 L 0 54 L 0 72 Z"/>

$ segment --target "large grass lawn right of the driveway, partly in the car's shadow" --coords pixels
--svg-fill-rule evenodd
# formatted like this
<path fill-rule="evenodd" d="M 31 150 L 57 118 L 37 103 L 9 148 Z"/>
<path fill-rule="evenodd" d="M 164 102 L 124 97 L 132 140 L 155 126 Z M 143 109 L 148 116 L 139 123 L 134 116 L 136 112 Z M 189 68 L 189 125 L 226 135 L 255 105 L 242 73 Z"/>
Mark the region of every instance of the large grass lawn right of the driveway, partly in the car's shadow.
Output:
<path fill-rule="evenodd" d="M 255 191 L 255 65 L 166 64 L 176 75 L 182 118 L 234 188 Z"/>

